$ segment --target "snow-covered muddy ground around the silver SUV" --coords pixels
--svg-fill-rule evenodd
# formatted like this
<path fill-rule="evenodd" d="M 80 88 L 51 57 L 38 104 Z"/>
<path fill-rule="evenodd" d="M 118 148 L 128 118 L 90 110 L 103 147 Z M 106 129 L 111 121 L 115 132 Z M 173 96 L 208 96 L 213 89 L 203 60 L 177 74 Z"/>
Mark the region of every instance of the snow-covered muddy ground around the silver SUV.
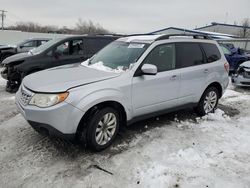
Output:
<path fill-rule="evenodd" d="M 40 136 L 0 79 L 1 187 L 250 187 L 250 90 L 230 86 L 215 114 L 184 110 L 134 124 L 91 153 Z"/>

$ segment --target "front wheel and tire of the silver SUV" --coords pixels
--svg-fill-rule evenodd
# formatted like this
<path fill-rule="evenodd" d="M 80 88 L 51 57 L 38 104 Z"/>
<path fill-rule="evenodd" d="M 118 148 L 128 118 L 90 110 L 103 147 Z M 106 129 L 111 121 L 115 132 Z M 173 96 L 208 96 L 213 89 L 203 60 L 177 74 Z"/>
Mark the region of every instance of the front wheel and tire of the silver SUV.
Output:
<path fill-rule="evenodd" d="M 118 133 L 119 122 L 119 113 L 115 109 L 102 108 L 94 113 L 84 126 L 80 136 L 81 144 L 86 145 L 92 151 L 106 149 Z"/>

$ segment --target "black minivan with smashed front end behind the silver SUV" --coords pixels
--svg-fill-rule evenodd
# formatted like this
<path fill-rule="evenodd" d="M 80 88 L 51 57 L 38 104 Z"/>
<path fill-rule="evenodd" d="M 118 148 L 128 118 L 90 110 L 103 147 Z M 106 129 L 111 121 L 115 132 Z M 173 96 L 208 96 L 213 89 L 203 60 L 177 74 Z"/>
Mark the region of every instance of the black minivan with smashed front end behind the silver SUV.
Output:
<path fill-rule="evenodd" d="M 16 91 L 22 79 L 44 69 L 82 62 L 118 36 L 68 36 L 50 40 L 29 53 L 6 58 L 1 75 L 8 80 L 6 90 Z"/>

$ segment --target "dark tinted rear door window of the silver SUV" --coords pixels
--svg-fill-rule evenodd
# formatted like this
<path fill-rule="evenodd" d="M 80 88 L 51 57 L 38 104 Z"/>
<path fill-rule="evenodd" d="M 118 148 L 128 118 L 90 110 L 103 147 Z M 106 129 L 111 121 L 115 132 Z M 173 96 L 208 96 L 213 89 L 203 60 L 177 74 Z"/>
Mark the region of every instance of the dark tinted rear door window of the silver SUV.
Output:
<path fill-rule="evenodd" d="M 176 43 L 178 68 L 190 67 L 204 63 L 203 54 L 198 43 Z"/>

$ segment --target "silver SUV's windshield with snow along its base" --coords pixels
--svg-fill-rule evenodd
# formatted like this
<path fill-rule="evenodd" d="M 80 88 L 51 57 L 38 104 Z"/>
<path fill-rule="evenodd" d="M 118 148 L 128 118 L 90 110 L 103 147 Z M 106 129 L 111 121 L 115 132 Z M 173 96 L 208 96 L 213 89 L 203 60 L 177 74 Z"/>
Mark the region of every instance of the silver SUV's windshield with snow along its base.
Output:
<path fill-rule="evenodd" d="M 148 44 L 144 43 L 115 41 L 93 56 L 88 61 L 88 65 L 101 65 L 110 69 L 127 70 L 138 60 L 147 47 Z"/>

